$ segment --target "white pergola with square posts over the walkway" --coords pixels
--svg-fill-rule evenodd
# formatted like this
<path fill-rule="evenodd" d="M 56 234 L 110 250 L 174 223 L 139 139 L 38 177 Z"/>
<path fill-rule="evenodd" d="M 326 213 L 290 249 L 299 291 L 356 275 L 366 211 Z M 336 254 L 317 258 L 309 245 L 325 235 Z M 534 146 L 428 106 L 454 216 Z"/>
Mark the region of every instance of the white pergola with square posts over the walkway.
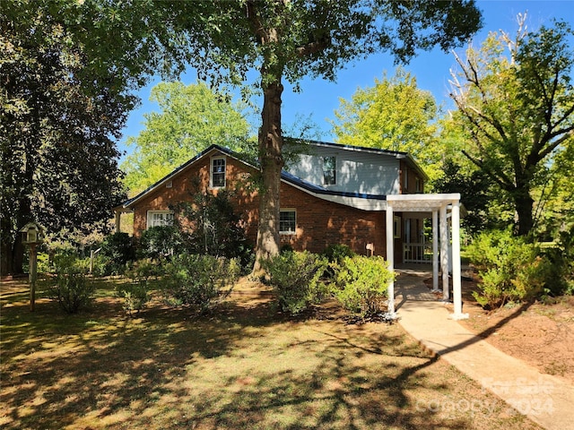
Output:
<path fill-rule="evenodd" d="M 450 318 L 468 318 L 462 313 L 461 263 L 460 263 L 460 194 L 393 194 L 387 195 L 387 262 L 388 269 L 395 272 L 394 213 L 424 212 L 432 219 L 432 290 L 439 289 L 439 266 L 442 284 L 442 299 L 450 299 L 448 273 L 452 271 L 452 300 L 454 313 Z M 450 227 L 448 223 L 450 218 Z M 450 237 L 452 242 L 450 243 Z M 440 250 L 439 250 L 440 247 Z M 396 316 L 395 282 L 388 286 L 388 314 Z"/>

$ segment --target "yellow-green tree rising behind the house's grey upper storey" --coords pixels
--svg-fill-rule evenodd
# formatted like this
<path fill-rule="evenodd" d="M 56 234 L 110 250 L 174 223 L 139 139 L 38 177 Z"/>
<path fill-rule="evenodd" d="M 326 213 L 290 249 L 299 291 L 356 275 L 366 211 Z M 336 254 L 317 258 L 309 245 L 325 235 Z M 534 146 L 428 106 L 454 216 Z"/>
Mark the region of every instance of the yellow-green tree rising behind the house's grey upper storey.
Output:
<path fill-rule="evenodd" d="M 351 100 L 340 99 L 332 121 L 336 142 L 409 152 L 422 162 L 431 178 L 439 176 L 442 150 L 436 140 L 437 105 L 431 92 L 402 68 L 395 76 L 375 79 L 358 89 Z"/>

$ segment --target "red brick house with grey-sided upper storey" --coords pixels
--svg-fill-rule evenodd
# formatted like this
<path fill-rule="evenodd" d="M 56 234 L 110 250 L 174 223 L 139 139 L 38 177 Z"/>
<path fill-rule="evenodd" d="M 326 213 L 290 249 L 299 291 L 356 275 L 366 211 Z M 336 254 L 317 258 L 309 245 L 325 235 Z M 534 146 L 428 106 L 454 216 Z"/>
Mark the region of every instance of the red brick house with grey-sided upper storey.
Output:
<path fill-rule="evenodd" d="M 287 143 L 289 145 L 289 143 Z M 320 253 L 327 245 L 349 245 L 358 254 L 387 258 L 385 211 L 388 194 L 422 193 L 427 176 L 405 152 L 309 142 L 307 153 L 283 169 L 282 245 Z M 244 221 L 248 239 L 257 237 L 258 195 L 250 178 L 257 168 L 239 154 L 213 145 L 123 204 L 134 212 L 134 235 L 172 222 L 170 205 L 192 193 L 221 189 Z M 424 258 L 425 214 L 395 212 L 395 262 Z"/>

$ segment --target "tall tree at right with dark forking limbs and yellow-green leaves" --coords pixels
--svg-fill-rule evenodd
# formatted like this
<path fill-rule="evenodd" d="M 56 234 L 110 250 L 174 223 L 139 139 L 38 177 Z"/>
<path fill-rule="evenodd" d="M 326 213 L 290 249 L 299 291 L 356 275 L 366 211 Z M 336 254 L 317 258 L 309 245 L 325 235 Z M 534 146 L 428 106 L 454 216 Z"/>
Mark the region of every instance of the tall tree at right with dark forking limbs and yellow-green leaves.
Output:
<path fill-rule="evenodd" d="M 516 39 L 491 33 L 457 56 L 451 94 L 471 137 L 465 156 L 513 202 L 519 235 L 534 227 L 533 190 L 574 139 L 574 33 L 565 22 L 527 33 L 525 20 Z"/>

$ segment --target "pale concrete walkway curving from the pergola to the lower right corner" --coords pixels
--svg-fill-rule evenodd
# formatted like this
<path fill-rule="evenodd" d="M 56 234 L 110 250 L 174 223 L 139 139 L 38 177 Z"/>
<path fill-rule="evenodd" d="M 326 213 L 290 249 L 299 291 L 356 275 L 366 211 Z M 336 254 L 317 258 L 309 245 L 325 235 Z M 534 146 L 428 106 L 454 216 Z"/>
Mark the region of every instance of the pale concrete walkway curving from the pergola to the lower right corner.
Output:
<path fill-rule="evenodd" d="M 423 283 L 429 272 L 396 272 L 396 312 L 413 338 L 540 426 L 574 430 L 572 384 L 541 374 L 450 320 L 452 310 Z"/>

